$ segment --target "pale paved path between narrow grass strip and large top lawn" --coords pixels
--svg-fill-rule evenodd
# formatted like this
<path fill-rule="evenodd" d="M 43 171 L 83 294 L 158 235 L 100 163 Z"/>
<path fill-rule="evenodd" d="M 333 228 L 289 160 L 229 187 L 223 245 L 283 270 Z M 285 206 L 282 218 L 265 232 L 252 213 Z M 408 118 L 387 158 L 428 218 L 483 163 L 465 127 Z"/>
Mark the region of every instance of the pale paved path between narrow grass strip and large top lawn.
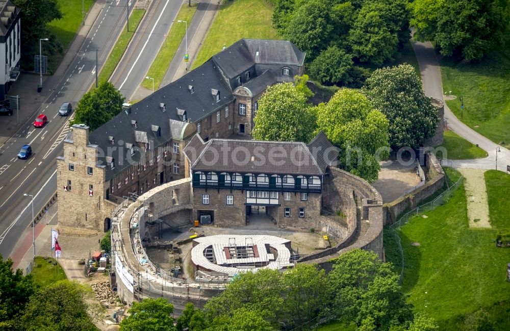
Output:
<path fill-rule="evenodd" d="M 196 9 L 193 19 L 188 26 L 188 53 L 190 55 L 188 62 L 188 70 L 191 68 L 193 61 L 198 54 L 203 41 L 207 37 L 209 28 L 211 27 L 216 14 L 218 13 L 218 2 L 216 0 L 201 0 Z M 179 52 L 179 49 L 186 48 L 186 40 L 183 38 L 177 52 L 173 57 L 170 65 L 167 68 L 165 77 L 161 82 L 161 87 L 170 84 L 171 82 L 183 77 L 186 74 L 186 65 L 183 59 L 183 52 Z M 138 86 L 135 93 L 133 94 L 133 100 L 141 100 L 152 93 L 151 90 Z"/>

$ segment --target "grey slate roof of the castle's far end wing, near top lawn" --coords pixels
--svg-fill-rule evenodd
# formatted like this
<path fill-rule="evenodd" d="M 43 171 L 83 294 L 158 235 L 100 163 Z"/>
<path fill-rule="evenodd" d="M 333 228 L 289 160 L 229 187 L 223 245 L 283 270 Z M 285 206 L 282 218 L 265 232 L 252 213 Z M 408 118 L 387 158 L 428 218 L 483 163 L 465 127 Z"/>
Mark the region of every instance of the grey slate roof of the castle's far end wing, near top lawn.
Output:
<path fill-rule="evenodd" d="M 232 79 L 256 63 L 301 66 L 304 56 L 290 41 L 241 39 L 211 59 Z"/>

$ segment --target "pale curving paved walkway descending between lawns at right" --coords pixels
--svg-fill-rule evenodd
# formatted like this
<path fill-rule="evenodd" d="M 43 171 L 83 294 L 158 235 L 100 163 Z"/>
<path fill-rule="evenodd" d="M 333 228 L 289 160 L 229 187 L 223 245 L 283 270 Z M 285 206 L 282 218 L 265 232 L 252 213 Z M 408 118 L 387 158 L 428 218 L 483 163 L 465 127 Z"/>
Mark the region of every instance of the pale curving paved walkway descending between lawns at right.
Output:
<path fill-rule="evenodd" d="M 498 144 L 469 128 L 469 126 L 455 117 L 455 115 L 446 105 L 443 97 L 443 82 L 441 80 L 439 61 L 436 57 L 436 52 L 434 51 L 432 44 L 428 41 L 412 41 L 412 44 L 416 53 L 416 58 L 418 59 L 418 63 L 420 65 L 421 78 L 425 95 L 443 101 L 445 104 L 445 119 L 447 120 L 448 128 L 453 130 L 456 134 L 460 135 L 467 141 L 473 144 L 478 144 L 479 147 L 486 150 L 489 154 L 489 156 L 484 159 L 454 160 L 455 165 L 460 168 L 495 169 L 496 148 L 499 147 L 501 151 L 497 153 L 497 169 L 506 171 L 506 165 L 510 165 L 510 150 L 499 146 Z"/>

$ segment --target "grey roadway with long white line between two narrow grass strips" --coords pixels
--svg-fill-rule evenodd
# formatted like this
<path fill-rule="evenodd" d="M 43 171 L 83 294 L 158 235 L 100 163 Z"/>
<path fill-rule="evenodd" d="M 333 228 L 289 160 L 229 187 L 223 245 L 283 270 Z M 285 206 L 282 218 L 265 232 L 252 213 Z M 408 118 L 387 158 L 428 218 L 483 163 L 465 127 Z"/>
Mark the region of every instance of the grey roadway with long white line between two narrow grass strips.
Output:
<path fill-rule="evenodd" d="M 181 6 L 181 1 L 156 0 L 151 3 L 140 22 L 137 32 L 110 78 L 110 82 L 127 100 L 131 99 L 145 79 Z"/>

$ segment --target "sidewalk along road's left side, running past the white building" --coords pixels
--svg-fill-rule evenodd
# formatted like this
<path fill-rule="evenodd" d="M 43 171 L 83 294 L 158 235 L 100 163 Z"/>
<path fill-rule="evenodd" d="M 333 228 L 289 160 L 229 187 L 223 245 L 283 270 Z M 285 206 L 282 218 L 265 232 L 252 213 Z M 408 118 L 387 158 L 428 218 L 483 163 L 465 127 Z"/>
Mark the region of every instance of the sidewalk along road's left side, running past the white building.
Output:
<path fill-rule="evenodd" d="M 2 146 L 10 137 L 12 137 L 21 125 L 29 118 L 35 117 L 39 112 L 39 108 L 54 91 L 54 88 L 62 80 L 64 73 L 69 65 L 72 63 L 74 57 L 78 54 L 82 44 L 87 37 L 90 29 L 92 28 L 97 16 L 106 5 L 106 0 L 97 0 L 90 8 L 89 13 L 85 18 L 85 24 L 80 28 L 74 40 L 69 45 L 65 52 L 64 59 L 58 66 L 55 74 L 43 75 L 42 92 L 37 92 L 37 85 L 39 85 L 39 74 L 33 72 L 22 72 L 18 80 L 13 84 L 9 91 L 9 96 L 19 95 L 19 120 L 16 120 L 17 114 L 14 111 L 12 116 L 2 116 L 0 118 L 0 154 Z M 7 98 L 8 98 L 7 97 Z"/>

